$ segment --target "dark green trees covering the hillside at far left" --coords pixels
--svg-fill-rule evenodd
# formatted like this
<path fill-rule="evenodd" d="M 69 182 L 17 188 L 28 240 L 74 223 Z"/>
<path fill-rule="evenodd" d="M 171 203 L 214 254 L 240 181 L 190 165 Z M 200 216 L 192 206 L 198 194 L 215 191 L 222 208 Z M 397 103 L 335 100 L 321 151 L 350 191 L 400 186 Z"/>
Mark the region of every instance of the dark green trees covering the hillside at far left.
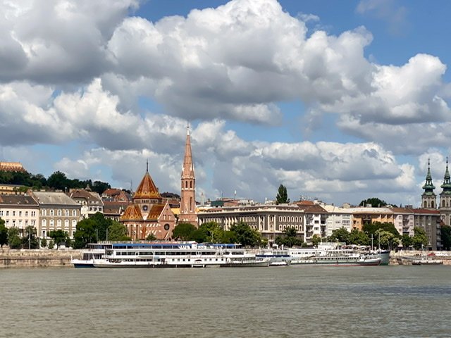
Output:
<path fill-rule="evenodd" d="M 28 172 L 9 172 L 0 171 L 0 183 L 23 185 L 18 191 L 25 192 L 27 189 L 54 189 L 61 191 L 69 191 L 69 189 L 83 189 L 89 185 L 93 192 L 101 194 L 106 189 L 111 188 L 111 185 L 106 182 L 92 180 L 70 180 L 65 173 L 55 171 L 49 177 L 44 177 L 42 174 L 32 175 Z"/>

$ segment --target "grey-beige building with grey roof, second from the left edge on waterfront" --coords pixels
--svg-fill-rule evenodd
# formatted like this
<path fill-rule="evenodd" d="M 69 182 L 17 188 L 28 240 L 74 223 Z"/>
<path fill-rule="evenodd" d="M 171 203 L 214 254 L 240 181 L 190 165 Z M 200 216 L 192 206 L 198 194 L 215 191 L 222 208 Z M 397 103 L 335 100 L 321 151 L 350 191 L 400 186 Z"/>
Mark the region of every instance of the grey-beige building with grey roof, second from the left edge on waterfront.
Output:
<path fill-rule="evenodd" d="M 64 230 L 73 238 L 77 223 L 82 220 L 82 206 L 63 192 L 31 192 L 39 204 L 37 236 L 47 238 L 51 230 Z"/>

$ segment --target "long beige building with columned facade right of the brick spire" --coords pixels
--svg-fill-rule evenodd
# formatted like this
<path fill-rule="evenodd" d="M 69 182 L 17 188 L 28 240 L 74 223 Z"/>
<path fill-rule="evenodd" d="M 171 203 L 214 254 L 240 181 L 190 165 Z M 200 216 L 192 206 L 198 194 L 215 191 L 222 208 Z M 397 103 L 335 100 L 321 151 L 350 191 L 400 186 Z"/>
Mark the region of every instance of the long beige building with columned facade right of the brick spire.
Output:
<path fill-rule="evenodd" d="M 257 204 L 253 206 L 230 206 L 199 211 L 199 225 L 216 222 L 224 230 L 244 222 L 261 233 L 261 237 L 273 243 L 288 227 L 294 227 L 297 236 L 304 240 L 304 211 L 292 204 Z"/>

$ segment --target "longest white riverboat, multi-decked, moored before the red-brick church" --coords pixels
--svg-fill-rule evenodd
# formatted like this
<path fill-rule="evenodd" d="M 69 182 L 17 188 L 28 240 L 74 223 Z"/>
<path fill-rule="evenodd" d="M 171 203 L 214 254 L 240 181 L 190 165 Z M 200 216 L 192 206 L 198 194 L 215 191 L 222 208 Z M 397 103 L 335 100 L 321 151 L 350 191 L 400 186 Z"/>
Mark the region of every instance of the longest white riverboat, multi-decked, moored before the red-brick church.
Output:
<path fill-rule="evenodd" d="M 117 243 L 106 247 L 94 268 L 213 268 L 268 266 L 269 258 L 235 244 Z M 75 266 L 75 264 L 74 264 Z"/>

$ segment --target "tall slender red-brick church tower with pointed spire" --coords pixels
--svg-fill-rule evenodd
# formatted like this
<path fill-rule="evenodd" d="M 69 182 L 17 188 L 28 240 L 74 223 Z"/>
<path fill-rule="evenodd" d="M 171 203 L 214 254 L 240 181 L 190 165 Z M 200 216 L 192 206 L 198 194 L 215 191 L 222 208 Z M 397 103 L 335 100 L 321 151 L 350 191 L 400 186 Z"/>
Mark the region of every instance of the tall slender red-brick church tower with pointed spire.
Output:
<path fill-rule="evenodd" d="M 194 165 L 192 163 L 190 126 L 187 126 L 185 157 L 183 158 L 180 194 L 179 222 L 191 223 L 197 227 L 196 190 L 195 190 Z"/>

